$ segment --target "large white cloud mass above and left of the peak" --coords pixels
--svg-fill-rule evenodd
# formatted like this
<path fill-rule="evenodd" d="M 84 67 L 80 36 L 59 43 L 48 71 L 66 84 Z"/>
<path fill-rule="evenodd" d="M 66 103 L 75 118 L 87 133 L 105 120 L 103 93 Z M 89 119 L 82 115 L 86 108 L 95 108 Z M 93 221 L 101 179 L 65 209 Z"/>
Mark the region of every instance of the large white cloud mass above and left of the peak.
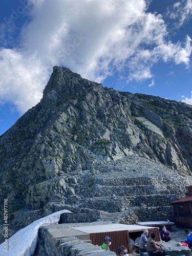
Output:
<path fill-rule="evenodd" d="M 166 41 L 166 24 L 160 14 L 146 13 L 148 1 L 29 2 L 31 20 L 20 44 L 0 49 L 0 100 L 12 101 L 20 113 L 41 99 L 54 65 L 97 82 L 113 70 L 123 71 L 127 81 L 151 79 L 160 60 L 189 65 L 190 37 L 184 45 Z"/>

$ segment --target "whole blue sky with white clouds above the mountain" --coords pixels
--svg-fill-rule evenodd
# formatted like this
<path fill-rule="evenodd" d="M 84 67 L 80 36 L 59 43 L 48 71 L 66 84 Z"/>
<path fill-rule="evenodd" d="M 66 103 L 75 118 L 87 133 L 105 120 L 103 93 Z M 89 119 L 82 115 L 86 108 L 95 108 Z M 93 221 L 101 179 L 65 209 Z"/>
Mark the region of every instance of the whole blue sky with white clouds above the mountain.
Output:
<path fill-rule="evenodd" d="M 54 66 L 104 87 L 192 104 L 192 0 L 6 0 L 0 135 L 35 106 Z"/>

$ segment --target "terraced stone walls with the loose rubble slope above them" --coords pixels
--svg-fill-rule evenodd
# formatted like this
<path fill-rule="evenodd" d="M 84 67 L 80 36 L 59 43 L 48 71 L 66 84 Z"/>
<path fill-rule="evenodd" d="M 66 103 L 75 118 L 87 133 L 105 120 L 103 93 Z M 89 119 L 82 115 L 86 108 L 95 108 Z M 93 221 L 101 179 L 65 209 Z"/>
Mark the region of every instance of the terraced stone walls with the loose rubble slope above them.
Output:
<path fill-rule="evenodd" d="M 131 158 L 119 160 L 118 170 L 114 169 L 114 163 L 110 164 L 82 173 L 78 197 L 68 197 L 66 204 L 108 212 L 103 220 L 124 224 L 167 219 L 175 222 L 170 203 L 185 197 L 186 186 L 192 184 L 192 178 L 186 179 L 175 170 L 139 157 L 137 162 Z"/>

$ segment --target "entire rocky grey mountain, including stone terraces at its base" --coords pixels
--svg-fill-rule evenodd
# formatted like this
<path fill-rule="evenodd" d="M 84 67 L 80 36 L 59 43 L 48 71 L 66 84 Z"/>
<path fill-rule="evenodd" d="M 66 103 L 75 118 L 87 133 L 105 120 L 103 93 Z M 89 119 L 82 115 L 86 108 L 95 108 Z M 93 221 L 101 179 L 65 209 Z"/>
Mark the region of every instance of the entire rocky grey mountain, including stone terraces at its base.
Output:
<path fill-rule="evenodd" d="M 54 67 L 41 101 L 0 137 L 0 196 L 10 218 L 33 210 L 27 225 L 58 204 L 111 212 L 170 206 L 192 184 L 191 110 Z M 151 189 L 164 201 L 154 196 L 153 205 Z"/>

